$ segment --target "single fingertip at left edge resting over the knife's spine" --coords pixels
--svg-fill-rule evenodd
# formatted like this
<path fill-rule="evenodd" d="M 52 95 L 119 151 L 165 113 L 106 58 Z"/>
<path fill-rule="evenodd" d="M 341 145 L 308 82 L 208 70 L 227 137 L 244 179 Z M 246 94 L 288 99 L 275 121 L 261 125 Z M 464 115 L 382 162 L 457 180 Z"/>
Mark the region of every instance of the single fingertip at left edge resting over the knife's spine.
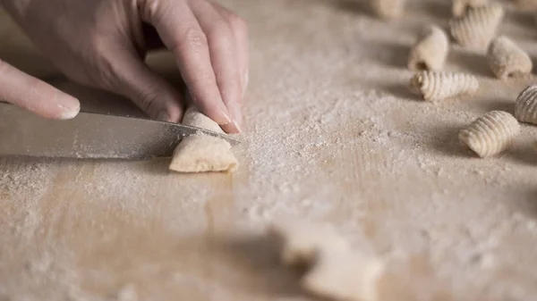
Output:
<path fill-rule="evenodd" d="M 76 98 L 0 60 L 0 101 L 2 100 L 54 119 L 71 119 L 81 109 Z"/>

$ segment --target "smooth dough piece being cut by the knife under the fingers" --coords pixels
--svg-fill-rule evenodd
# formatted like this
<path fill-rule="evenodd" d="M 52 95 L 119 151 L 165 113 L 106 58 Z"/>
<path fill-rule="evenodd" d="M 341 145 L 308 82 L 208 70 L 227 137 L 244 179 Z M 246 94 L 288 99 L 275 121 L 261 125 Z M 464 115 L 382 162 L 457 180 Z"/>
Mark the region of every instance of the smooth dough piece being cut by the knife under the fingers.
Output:
<path fill-rule="evenodd" d="M 194 107 L 184 113 L 183 124 L 224 133 L 220 126 Z M 237 159 L 222 138 L 197 133 L 183 138 L 175 148 L 169 169 L 179 172 L 235 171 Z"/>

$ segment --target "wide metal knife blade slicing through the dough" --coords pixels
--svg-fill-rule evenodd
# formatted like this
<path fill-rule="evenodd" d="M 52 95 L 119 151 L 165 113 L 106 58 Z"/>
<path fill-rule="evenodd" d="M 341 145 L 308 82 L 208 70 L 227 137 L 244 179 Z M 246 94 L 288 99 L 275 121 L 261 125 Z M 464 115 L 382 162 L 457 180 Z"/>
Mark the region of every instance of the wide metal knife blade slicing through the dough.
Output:
<path fill-rule="evenodd" d="M 198 132 L 226 139 L 232 146 L 240 143 L 227 135 L 178 123 L 90 112 L 58 121 L 0 102 L 0 156 L 129 160 L 168 157 L 183 137 Z"/>

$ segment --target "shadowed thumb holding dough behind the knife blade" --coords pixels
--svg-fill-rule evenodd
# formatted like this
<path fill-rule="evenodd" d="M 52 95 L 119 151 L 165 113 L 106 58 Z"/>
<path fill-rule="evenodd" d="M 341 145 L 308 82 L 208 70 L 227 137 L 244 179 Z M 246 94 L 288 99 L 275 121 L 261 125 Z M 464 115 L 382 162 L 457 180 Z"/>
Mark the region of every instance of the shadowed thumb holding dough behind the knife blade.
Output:
<path fill-rule="evenodd" d="M 123 49 L 112 53 L 114 92 L 131 99 L 152 119 L 179 122 L 183 116 L 183 96 L 178 89 L 150 70 L 133 52 Z"/>

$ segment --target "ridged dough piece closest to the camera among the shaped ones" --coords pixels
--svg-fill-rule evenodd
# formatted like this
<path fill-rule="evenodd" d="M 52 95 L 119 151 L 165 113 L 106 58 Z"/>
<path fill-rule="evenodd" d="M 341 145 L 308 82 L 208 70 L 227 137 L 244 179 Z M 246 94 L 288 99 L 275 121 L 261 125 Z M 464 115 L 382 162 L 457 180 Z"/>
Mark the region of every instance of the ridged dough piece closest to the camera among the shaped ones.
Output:
<path fill-rule="evenodd" d="M 459 132 L 459 139 L 482 158 L 498 155 L 507 149 L 520 132 L 520 125 L 510 113 L 492 111 L 473 121 Z"/>

